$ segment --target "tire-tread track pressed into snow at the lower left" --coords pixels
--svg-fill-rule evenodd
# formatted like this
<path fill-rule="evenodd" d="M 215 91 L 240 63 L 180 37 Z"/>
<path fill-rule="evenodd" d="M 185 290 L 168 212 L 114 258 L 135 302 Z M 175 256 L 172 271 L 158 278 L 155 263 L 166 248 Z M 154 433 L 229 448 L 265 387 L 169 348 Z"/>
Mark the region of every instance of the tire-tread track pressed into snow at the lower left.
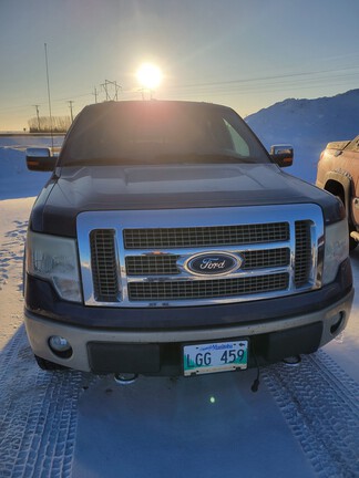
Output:
<path fill-rule="evenodd" d="M 0 354 L 0 477 L 71 477 L 86 374 L 40 371 L 21 326 Z"/>

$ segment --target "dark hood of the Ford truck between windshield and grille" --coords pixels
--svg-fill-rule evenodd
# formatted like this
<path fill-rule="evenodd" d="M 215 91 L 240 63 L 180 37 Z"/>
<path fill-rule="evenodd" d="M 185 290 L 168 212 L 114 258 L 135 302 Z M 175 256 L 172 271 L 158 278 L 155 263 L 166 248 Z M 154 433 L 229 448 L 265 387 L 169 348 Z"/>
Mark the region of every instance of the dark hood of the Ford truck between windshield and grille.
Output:
<path fill-rule="evenodd" d="M 329 200 L 330 199 L 330 200 Z M 336 201 L 274 164 L 65 167 L 40 194 L 33 230 L 75 237 L 82 211 Z"/>

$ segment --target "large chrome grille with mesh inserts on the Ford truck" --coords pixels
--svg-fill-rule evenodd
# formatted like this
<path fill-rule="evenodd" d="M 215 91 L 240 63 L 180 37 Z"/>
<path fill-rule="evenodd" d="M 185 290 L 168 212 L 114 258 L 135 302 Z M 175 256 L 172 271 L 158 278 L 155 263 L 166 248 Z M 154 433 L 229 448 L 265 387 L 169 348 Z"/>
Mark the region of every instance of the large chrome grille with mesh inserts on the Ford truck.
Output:
<path fill-rule="evenodd" d="M 88 305 L 195 306 L 321 285 L 316 205 L 83 212 L 78 229 Z M 238 267 L 211 276 L 188 266 L 216 253 L 237 257 Z"/>

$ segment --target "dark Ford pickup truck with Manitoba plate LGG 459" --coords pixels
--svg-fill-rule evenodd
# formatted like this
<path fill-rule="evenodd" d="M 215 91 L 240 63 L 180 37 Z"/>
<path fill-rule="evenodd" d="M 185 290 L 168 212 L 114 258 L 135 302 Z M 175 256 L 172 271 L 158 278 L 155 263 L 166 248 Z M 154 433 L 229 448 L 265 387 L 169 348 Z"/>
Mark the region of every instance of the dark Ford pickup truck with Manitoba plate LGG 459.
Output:
<path fill-rule="evenodd" d="M 285 174 L 229 107 L 86 106 L 29 221 L 24 321 L 39 365 L 193 375 L 312 353 L 352 297 L 342 202 Z"/>

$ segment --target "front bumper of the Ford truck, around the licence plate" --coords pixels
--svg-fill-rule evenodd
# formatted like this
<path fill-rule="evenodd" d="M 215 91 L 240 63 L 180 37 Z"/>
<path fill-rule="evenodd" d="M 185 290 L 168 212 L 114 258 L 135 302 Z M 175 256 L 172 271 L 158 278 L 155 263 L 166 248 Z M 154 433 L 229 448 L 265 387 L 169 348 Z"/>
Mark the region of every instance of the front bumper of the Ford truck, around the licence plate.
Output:
<path fill-rule="evenodd" d="M 310 313 L 227 326 L 95 329 L 60 323 L 29 310 L 25 310 L 24 322 L 33 353 L 50 362 L 83 372 L 177 375 L 182 370 L 181 347 L 184 343 L 249 337 L 252 352 L 255 351 L 259 363 L 312 353 L 346 328 L 352 300 L 353 289 L 330 305 Z M 266 308 L 266 301 L 261 301 L 261 305 Z M 171 315 L 170 309 L 167 313 Z M 51 351 L 49 337 L 52 335 L 70 342 L 73 351 L 70 357 L 59 357 Z M 254 362 L 249 360 L 252 365 Z"/>

